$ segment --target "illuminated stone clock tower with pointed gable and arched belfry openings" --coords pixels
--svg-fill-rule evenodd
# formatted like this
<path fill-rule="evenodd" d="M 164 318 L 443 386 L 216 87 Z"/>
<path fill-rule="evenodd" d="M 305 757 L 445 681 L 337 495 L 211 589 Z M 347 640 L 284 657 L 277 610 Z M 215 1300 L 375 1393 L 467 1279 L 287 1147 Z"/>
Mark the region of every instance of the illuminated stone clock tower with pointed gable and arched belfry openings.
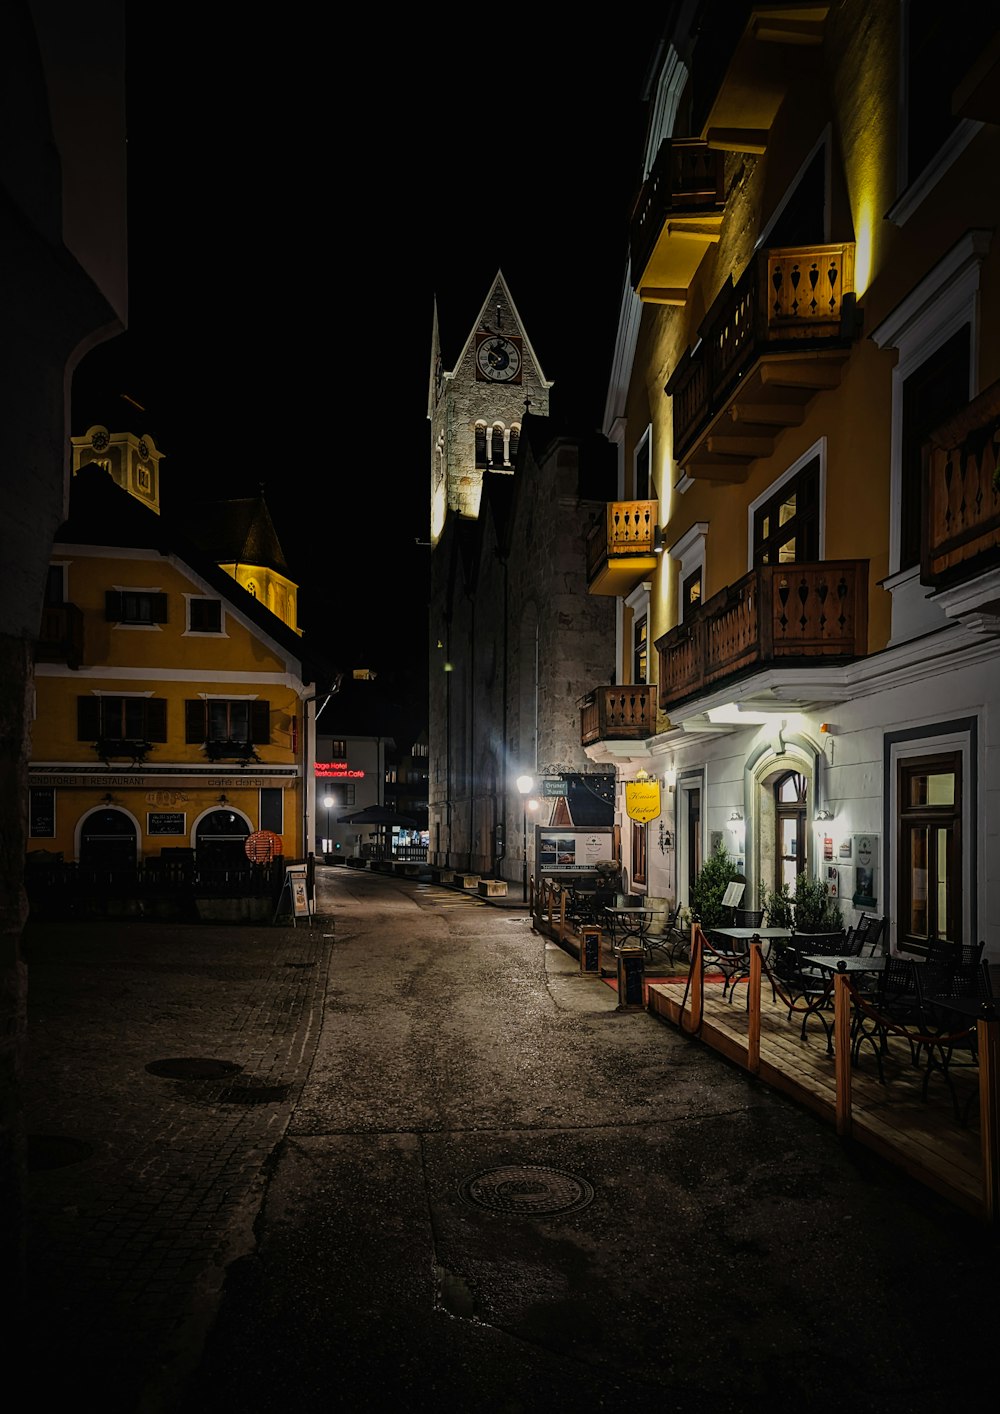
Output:
<path fill-rule="evenodd" d="M 478 518 L 487 471 L 513 472 L 525 409 L 547 417 L 550 387 L 501 271 L 451 372 L 444 368 L 434 304 L 427 400 L 431 544 L 448 510 Z"/>

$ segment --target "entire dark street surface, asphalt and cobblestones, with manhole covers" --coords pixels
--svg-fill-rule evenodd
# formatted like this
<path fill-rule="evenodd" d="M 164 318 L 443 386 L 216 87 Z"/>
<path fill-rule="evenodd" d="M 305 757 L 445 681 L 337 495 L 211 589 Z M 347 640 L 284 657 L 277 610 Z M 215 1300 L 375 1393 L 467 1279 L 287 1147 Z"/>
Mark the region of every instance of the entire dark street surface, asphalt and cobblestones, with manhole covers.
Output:
<path fill-rule="evenodd" d="M 30 1130 L 89 1144 L 33 1178 L 45 1407 L 915 1414 L 993 1383 L 996 1234 L 521 908 L 331 868 L 313 928 L 27 950 Z"/>

